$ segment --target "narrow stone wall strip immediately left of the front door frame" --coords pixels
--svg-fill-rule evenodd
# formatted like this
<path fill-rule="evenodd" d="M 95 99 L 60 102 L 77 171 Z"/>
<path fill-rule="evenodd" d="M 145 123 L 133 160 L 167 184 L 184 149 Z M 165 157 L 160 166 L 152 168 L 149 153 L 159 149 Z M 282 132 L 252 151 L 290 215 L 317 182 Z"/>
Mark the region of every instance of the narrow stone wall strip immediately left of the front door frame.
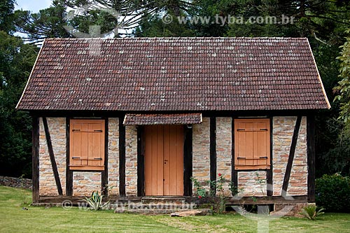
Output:
<path fill-rule="evenodd" d="M 125 127 L 125 192 L 137 196 L 137 127 Z"/>

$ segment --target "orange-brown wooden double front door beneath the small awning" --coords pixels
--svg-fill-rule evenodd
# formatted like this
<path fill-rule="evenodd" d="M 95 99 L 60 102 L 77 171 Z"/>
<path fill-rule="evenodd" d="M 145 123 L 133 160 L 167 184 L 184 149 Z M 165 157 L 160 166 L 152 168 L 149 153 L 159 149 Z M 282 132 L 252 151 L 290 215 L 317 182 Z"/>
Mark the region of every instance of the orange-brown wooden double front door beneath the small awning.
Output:
<path fill-rule="evenodd" d="M 183 196 L 183 126 L 145 127 L 146 196 Z"/>

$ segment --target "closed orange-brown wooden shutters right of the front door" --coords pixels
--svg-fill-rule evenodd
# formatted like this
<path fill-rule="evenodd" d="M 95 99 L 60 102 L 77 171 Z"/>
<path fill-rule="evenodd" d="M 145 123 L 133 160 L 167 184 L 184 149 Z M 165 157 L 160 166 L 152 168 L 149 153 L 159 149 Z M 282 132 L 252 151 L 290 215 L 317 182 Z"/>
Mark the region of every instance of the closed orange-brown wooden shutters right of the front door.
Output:
<path fill-rule="evenodd" d="M 269 168 L 269 119 L 236 119 L 235 169 Z"/>

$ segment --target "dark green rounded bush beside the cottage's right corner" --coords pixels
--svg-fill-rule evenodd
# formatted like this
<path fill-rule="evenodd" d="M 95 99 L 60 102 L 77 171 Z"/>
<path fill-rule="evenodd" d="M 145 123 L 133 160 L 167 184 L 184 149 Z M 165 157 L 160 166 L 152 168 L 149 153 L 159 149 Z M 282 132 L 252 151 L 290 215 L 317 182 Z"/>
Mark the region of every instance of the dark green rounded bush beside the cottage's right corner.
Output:
<path fill-rule="evenodd" d="M 349 212 L 350 178 L 339 174 L 316 179 L 316 204 L 326 211 Z"/>

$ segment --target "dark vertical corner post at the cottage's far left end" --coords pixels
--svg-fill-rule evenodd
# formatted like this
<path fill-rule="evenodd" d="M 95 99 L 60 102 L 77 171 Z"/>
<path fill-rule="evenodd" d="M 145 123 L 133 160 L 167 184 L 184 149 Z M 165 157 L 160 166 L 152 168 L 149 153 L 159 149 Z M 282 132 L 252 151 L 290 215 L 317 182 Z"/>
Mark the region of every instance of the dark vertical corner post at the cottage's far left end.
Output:
<path fill-rule="evenodd" d="M 39 118 L 33 117 L 31 121 L 31 169 L 33 186 L 33 203 L 39 202 Z"/>

